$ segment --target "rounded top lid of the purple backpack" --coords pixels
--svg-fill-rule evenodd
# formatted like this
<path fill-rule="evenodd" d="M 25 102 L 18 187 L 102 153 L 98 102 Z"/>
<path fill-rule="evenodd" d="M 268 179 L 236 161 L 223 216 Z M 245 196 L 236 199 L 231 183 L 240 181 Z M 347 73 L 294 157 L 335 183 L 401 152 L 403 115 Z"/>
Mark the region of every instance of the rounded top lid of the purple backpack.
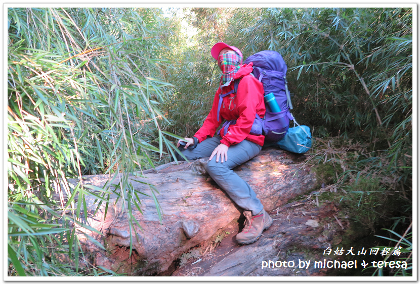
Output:
<path fill-rule="evenodd" d="M 282 56 L 277 51 L 263 50 L 249 56 L 244 63 L 253 62 L 253 66 L 267 70 L 275 70 L 286 76 L 287 66 Z"/>

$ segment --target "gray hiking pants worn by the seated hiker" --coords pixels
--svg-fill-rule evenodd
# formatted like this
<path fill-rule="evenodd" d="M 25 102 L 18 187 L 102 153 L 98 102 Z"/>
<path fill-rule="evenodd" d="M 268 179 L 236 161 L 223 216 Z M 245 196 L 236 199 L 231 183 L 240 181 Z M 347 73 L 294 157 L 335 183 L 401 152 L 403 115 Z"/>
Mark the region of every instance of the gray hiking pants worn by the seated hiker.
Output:
<path fill-rule="evenodd" d="M 182 153 L 188 160 L 209 157 L 213 150 L 220 144 L 221 139 L 220 136 L 207 138 L 199 143 L 195 149 L 185 149 Z M 216 162 L 216 156 L 214 156 L 205 166 L 207 173 L 229 197 L 239 207 L 247 211 L 252 211 L 253 215 L 257 215 L 263 210 L 263 204 L 261 204 L 261 201 L 257 198 L 251 187 L 232 171 L 232 168 L 258 155 L 261 148 L 260 145 L 254 142 L 243 140 L 229 147 L 227 161 L 222 163 L 219 160 L 219 162 Z"/>

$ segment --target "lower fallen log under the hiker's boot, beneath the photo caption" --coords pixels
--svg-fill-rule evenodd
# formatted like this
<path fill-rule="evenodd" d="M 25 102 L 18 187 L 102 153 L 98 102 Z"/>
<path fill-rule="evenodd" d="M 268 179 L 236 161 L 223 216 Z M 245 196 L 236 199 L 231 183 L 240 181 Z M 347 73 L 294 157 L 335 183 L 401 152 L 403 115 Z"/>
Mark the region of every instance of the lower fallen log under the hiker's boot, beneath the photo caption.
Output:
<path fill-rule="evenodd" d="M 331 255 L 330 258 L 323 252 L 342 242 L 342 236 L 350 228 L 350 221 L 343 218 L 339 223 L 334 218 L 339 212 L 334 202 L 317 204 L 313 199 L 306 196 L 298 198 L 281 206 L 279 211 L 270 212 L 273 217 L 270 229 L 264 231 L 258 242 L 250 245 L 238 245 L 234 237 L 238 232 L 238 224 L 231 222 L 223 230 L 219 230 L 216 240 L 205 242 L 184 253 L 180 265 L 174 271 L 168 272 L 171 272 L 171 276 L 210 277 L 336 276 L 337 272 L 343 271 L 333 267 L 315 266 L 314 263 L 323 259 L 334 260 L 334 257 L 344 260 L 337 255 Z M 344 215 L 344 212 L 341 213 Z M 349 241 L 353 234 L 346 237 Z M 264 267 L 263 263 L 270 260 L 273 261 L 272 265 Z M 300 266 L 299 260 L 305 261 L 307 266 Z M 276 261 L 277 266 L 274 267 Z M 286 266 L 278 263 L 284 264 L 283 261 L 286 261 Z M 352 272 L 356 274 L 360 270 Z"/>

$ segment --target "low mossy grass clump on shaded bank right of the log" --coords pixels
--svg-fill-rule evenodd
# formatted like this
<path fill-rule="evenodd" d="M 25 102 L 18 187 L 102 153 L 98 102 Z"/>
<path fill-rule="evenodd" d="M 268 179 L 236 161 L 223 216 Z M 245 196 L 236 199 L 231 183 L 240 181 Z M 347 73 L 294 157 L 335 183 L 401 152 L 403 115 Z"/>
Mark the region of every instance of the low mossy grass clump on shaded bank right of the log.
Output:
<path fill-rule="evenodd" d="M 316 152 L 307 161 L 324 183 L 320 193 L 331 192 L 328 199 L 351 208 L 351 217 L 371 231 L 393 219 L 407 218 L 401 220 L 406 224 L 412 214 L 412 190 L 401 179 L 403 169 L 389 165 L 386 151 L 369 151 L 373 144 L 316 138 Z"/>

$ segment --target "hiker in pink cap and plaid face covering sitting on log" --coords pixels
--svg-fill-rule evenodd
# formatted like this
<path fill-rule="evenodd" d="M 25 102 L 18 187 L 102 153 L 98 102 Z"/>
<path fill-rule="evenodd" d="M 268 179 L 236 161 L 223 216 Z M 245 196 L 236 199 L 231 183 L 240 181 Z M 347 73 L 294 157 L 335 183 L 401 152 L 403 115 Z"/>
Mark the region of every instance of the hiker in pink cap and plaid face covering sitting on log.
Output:
<path fill-rule="evenodd" d="M 188 160 L 209 157 L 204 165 L 206 172 L 244 210 L 244 229 L 236 235 L 236 240 L 239 244 L 250 244 L 258 240 L 273 219 L 253 189 L 232 168 L 258 155 L 264 144 L 264 135 L 250 133 L 256 114 L 264 117 L 264 89 L 250 74 L 253 64 L 242 64 L 242 53 L 238 48 L 219 42 L 211 53 L 223 73 L 220 87 L 202 127 L 193 138 L 184 139 L 188 143 L 182 153 Z M 236 93 L 235 80 L 240 80 Z M 223 128 L 215 136 L 224 120 Z M 178 141 L 178 147 L 180 143 L 182 140 Z M 181 159 L 179 155 L 177 158 Z"/>

